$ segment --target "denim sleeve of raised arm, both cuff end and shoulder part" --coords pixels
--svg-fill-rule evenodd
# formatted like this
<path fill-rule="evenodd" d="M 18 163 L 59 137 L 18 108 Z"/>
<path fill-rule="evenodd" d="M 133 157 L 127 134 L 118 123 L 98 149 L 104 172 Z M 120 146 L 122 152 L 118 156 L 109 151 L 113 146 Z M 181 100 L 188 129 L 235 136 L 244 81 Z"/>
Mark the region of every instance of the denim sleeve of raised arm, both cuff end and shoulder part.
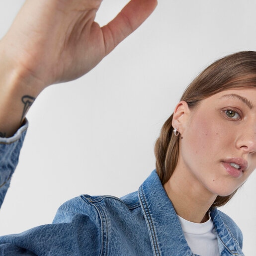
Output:
<path fill-rule="evenodd" d="M 0 203 L 10 184 L 27 129 L 26 123 L 11 138 L 0 138 Z M 83 197 L 64 203 L 54 222 L 20 234 L 0 237 L 0 256 L 97 256 L 101 253 L 98 213 Z"/>

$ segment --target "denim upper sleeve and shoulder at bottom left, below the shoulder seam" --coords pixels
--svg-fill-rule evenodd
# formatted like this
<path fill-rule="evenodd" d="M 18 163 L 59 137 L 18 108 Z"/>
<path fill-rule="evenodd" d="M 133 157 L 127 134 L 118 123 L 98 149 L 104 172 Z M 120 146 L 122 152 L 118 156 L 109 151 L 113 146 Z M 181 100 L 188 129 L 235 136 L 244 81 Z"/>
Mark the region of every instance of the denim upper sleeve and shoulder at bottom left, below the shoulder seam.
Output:
<path fill-rule="evenodd" d="M 106 255 L 102 236 L 96 209 L 79 196 L 59 208 L 52 224 L 0 237 L 0 256 Z"/>

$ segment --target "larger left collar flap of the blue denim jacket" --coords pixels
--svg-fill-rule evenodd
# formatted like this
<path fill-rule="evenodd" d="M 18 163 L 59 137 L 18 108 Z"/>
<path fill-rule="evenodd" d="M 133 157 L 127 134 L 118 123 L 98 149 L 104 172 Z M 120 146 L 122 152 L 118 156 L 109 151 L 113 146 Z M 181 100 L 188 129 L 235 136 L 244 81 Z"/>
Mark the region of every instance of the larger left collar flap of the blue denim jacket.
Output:
<path fill-rule="evenodd" d="M 193 255 L 156 171 L 144 181 L 138 193 L 155 256 Z"/>

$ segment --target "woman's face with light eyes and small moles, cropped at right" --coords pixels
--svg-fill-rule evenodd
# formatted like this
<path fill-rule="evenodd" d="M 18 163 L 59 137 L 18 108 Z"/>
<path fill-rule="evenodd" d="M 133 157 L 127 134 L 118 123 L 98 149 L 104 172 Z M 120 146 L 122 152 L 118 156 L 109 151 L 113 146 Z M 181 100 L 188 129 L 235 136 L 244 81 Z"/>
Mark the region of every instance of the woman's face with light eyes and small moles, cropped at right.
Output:
<path fill-rule="evenodd" d="M 214 94 L 183 119 L 179 167 L 193 185 L 231 194 L 256 168 L 256 89 Z"/>

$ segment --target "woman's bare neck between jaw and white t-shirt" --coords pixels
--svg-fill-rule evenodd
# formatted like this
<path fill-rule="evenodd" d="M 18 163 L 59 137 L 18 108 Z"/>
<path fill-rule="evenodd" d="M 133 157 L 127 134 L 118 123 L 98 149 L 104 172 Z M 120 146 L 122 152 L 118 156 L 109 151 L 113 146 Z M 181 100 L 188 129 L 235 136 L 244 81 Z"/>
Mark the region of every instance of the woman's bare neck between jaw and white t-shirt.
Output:
<path fill-rule="evenodd" d="M 182 168 L 175 168 L 164 188 L 180 217 L 195 223 L 208 220 L 208 210 L 217 195 L 211 193 Z"/>

